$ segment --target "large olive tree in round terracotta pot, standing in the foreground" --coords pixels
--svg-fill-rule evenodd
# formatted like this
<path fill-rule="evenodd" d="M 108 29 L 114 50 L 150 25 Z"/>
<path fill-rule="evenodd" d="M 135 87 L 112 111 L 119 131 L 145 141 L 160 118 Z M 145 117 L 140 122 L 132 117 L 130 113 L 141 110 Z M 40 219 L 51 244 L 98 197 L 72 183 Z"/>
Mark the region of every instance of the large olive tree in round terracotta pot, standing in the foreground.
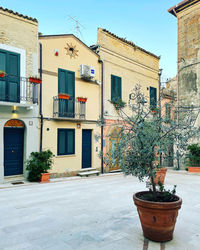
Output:
<path fill-rule="evenodd" d="M 168 147 L 173 141 L 179 145 L 179 155 L 184 152 L 188 140 L 199 129 L 193 126 L 195 117 L 183 113 L 178 120 L 166 123 L 161 112 L 152 113 L 147 98 L 137 85 L 130 95 L 129 108 L 131 115 L 123 109 L 118 110 L 118 133 L 108 135 L 111 140 L 117 136 L 118 144 L 114 150 L 107 153 L 105 162 L 118 162 L 125 175 L 134 175 L 140 181 L 145 177 L 150 179 L 149 190 L 135 193 L 133 200 L 137 206 L 143 234 L 153 241 L 169 241 L 173 237 L 174 226 L 181 208 L 182 200 L 172 191 L 160 188 L 155 183 L 156 171 L 161 168 L 159 156 L 167 154 Z M 174 114 L 176 114 L 174 108 Z"/>

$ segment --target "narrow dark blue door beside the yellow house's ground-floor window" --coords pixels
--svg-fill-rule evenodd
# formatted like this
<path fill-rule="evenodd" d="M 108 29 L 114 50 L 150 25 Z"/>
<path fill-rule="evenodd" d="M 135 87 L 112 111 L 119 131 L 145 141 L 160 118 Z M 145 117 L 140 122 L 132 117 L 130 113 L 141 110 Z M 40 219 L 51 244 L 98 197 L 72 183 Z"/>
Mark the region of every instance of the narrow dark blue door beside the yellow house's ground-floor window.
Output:
<path fill-rule="evenodd" d="M 91 168 L 92 130 L 82 130 L 82 168 Z"/>

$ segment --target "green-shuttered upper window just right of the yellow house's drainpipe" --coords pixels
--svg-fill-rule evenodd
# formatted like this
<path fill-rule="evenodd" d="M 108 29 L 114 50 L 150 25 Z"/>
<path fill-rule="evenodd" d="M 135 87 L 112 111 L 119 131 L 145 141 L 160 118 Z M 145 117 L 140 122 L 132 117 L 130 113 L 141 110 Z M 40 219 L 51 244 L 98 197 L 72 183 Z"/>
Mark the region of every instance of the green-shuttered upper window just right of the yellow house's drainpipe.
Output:
<path fill-rule="evenodd" d="M 116 102 L 122 98 L 122 79 L 111 75 L 111 101 Z"/>

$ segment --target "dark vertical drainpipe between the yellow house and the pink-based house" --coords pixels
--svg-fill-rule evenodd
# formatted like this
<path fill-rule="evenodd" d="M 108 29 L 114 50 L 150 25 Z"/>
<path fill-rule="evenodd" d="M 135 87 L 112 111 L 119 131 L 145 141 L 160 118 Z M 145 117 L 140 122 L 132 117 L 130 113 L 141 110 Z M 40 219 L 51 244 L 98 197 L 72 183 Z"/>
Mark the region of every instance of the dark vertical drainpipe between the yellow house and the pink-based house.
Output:
<path fill-rule="evenodd" d="M 98 61 L 101 63 L 101 173 L 104 173 L 103 169 L 103 123 L 104 123 L 104 105 L 103 105 L 103 77 L 104 77 L 104 72 L 103 72 L 103 61 L 99 59 Z"/>

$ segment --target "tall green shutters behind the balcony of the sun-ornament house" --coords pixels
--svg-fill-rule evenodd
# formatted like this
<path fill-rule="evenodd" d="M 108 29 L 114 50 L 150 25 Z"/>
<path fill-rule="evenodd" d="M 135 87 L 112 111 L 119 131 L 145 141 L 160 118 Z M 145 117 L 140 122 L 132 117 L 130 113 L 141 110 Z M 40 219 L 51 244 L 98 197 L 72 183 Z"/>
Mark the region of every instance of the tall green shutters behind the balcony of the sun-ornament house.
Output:
<path fill-rule="evenodd" d="M 75 116 L 75 73 L 69 70 L 58 69 L 58 93 L 69 94 L 69 100 L 59 100 L 59 116 Z"/>

